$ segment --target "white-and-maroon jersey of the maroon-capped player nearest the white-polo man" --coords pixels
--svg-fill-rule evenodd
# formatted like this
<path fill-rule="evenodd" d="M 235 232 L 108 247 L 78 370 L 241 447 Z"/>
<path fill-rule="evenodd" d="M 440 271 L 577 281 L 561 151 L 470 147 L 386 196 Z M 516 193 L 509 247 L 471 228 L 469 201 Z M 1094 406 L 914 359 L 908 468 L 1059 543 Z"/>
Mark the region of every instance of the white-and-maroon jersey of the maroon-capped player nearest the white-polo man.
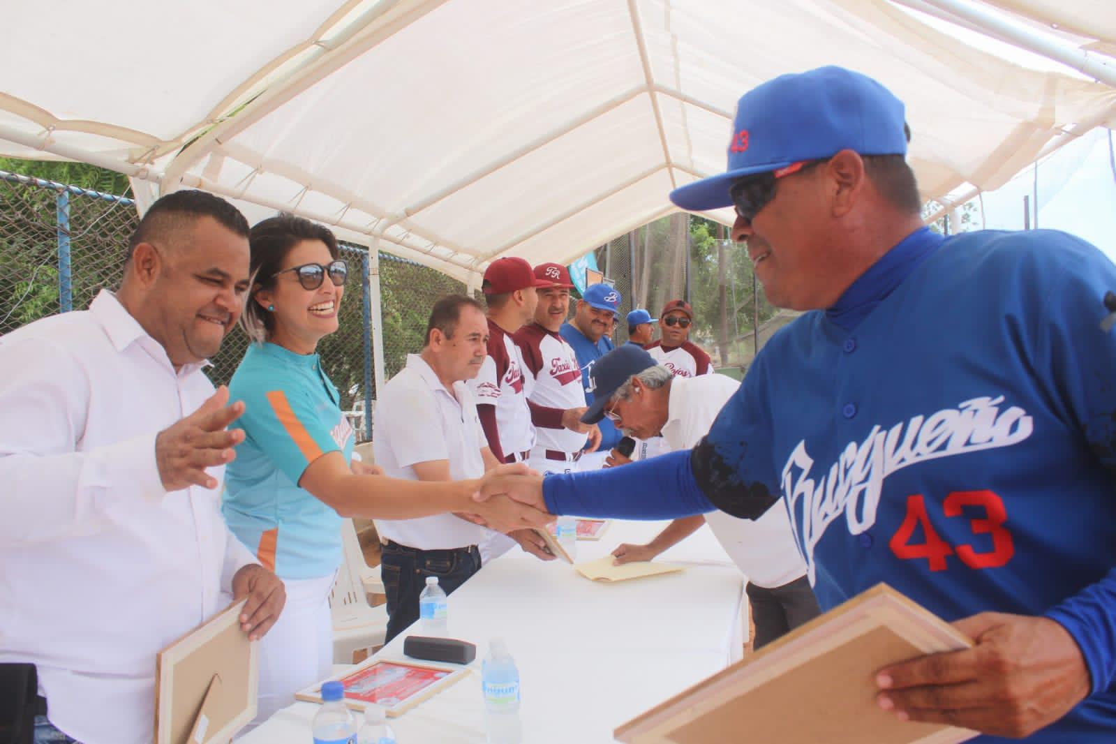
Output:
<path fill-rule="evenodd" d="M 527 452 L 535 445 L 535 426 L 527 407 L 530 381 L 523 378 L 523 358 L 511 336 L 489 320 L 489 356 L 469 383 L 477 405 L 496 406 L 496 427 L 503 454 Z"/>

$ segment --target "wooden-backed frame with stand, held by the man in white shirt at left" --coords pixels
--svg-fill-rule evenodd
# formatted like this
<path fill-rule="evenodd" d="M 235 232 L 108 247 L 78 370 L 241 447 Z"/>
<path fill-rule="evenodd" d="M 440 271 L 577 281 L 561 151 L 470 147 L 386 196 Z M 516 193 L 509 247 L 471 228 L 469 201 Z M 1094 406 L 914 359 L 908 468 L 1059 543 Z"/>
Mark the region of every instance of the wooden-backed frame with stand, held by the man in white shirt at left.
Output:
<path fill-rule="evenodd" d="M 256 717 L 257 645 L 241 600 L 155 657 L 155 744 L 228 742 Z"/>

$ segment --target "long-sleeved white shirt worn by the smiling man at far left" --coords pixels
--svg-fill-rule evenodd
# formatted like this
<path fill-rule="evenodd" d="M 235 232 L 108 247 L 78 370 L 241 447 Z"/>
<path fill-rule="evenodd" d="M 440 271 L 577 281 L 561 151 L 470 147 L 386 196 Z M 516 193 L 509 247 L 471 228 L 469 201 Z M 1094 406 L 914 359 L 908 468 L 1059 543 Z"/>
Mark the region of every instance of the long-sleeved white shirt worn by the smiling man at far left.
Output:
<path fill-rule="evenodd" d="M 107 291 L 0 337 L 0 663 L 36 664 L 85 744 L 151 743 L 156 653 L 256 562 L 220 486 L 167 493 L 155 464 L 156 434 L 212 394 Z"/>

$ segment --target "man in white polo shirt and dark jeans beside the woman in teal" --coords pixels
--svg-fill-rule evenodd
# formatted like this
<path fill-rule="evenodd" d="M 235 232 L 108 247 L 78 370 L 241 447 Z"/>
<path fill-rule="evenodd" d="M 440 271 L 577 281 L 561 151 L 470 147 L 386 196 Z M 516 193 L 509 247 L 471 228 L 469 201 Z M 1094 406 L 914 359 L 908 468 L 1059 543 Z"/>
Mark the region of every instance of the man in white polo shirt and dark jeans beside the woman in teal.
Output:
<path fill-rule="evenodd" d="M 489 326 L 477 300 L 451 294 L 434 303 L 426 346 L 377 396 L 373 452 L 384 474 L 414 481 L 479 477 L 498 462 L 465 384 L 488 359 Z M 478 545 L 490 530 L 453 514 L 376 520 L 383 542 L 387 640 L 419 619 L 426 577 L 452 593 L 481 568 Z"/>

